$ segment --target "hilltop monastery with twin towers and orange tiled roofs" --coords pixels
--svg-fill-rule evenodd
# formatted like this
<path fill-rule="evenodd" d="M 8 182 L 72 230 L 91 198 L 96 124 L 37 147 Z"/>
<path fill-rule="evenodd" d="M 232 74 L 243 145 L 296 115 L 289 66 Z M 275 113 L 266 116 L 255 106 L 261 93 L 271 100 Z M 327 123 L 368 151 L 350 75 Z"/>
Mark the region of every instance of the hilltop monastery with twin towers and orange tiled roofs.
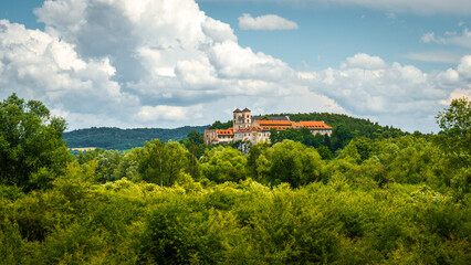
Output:
<path fill-rule="evenodd" d="M 229 144 L 234 141 L 248 141 L 257 145 L 261 141 L 270 142 L 270 130 L 276 131 L 307 128 L 313 135 L 332 134 L 332 127 L 324 121 L 299 121 L 290 120 L 290 117 L 252 116 L 249 108 L 233 112 L 233 127 L 229 129 L 205 130 L 205 145 Z"/>

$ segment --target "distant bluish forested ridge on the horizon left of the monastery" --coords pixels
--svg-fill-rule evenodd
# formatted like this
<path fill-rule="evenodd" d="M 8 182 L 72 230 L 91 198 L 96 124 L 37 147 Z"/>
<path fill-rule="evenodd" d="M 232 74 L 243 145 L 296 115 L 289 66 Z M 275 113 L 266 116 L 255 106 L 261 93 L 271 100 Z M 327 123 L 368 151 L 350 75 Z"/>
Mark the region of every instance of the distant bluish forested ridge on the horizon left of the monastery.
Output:
<path fill-rule="evenodd" d="M 69 148 L 98 147 L 103 149 L 126 150 L 144 146 L 144 142 L 151 139 L 161 141 L 178 141 L 186 139 L 191 130 L 205 132 L 209 126 L 185 126 L 176 129 L 160 128 L 139 128 L 139 129 L 119 129 L 119 128 L 96 128 L 78 129 L 64 132 L 62 138 L 67 142 Z"/>

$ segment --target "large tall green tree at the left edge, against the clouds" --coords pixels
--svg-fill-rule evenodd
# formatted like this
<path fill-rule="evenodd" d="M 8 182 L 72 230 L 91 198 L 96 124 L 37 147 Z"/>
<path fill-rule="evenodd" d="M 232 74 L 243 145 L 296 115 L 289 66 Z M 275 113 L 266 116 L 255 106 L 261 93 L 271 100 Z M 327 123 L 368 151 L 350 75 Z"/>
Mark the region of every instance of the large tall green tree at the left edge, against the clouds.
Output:
<path fill-rule="evenodd" d="M 38 100 L 15 94 L 0 103 L 0 183 L 25 191 L 50 188 L 70 161 L 61 136 L 65 120 Z"/>

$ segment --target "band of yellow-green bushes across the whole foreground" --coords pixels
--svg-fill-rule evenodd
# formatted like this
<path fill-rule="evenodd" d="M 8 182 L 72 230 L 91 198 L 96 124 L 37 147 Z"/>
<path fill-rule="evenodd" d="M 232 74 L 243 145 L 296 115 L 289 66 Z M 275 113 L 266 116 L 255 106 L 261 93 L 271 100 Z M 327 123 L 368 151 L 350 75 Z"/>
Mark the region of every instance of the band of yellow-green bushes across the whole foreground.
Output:
<path fill-rule="evenodd" d="M 126 179 L 91 186 L 84 173 L 71 168 L 53 189 L 0 200 L 2 261 L 467 264 L 470 257 L 469 201 L 426 186 L 358 190 L 332 179 L 270 189 L 247 180 L 188 190 Z"/>

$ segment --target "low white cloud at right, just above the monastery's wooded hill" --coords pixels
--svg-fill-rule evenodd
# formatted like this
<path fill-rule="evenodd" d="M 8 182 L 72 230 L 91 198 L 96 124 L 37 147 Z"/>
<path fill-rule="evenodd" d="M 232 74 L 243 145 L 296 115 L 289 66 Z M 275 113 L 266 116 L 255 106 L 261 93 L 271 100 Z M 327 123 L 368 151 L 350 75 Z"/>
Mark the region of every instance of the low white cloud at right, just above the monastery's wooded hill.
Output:
<path fill-rule="evenodd" d="M 471 56 L 457 70 L 427 74 L 412 65 L 386 64 L 381 59 L 356 54 L 341 68 L 300 73 L 299 77 L 315 93 L 333 98 L 348 113 L 374 116 L 402 128 L 433 123 L 431 114 L 457 88 L 469 92 Z M 415 120 L 415 121 L 412 121 Z"/>

